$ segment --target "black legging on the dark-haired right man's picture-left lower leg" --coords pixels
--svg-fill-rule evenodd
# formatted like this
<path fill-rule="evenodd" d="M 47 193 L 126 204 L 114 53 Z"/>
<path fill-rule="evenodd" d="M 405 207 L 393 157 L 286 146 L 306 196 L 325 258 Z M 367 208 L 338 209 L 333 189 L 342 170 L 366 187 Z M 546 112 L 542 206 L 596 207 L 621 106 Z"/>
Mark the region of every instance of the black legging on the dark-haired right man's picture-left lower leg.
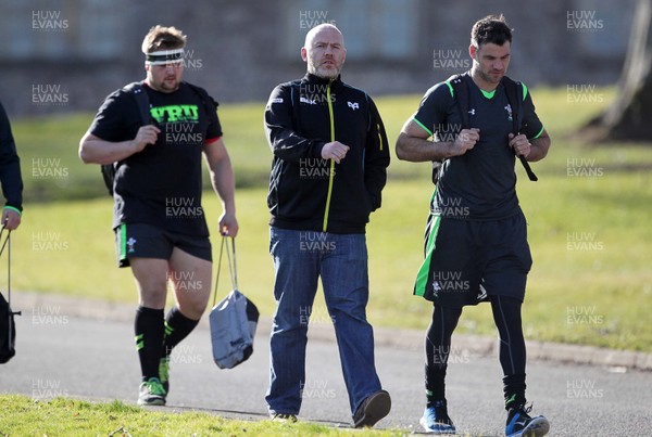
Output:
<path fill-rule="evenodd" d="M 427 407 L 446 400 L 446 371 L 451 350 L 451 336 L 462 314 L 462 308 L 435 306 L 426 334 L 426 400 Z"/>

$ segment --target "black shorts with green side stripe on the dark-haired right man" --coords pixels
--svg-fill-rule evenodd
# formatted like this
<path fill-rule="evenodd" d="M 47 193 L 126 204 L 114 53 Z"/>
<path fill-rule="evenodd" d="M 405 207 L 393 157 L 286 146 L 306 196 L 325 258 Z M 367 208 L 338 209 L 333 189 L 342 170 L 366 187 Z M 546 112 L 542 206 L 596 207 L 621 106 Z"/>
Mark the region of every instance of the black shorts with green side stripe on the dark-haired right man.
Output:
<path fill-rule="evenodd" d="M 476 305 L 488 296 L 525 297 L 532 265 L 523 213 L 472 221 L 431 216 L 414 294 L 446 307 Z"/>

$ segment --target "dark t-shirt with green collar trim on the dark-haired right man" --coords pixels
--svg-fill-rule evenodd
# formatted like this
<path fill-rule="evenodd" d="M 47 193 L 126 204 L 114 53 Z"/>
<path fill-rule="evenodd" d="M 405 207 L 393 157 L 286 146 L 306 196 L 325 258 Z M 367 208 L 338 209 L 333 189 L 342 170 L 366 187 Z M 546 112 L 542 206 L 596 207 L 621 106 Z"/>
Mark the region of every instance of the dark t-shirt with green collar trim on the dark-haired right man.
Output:
<path fill-rule="evenodd" d="M 492 220 L 513 216 L 519 210 L 516 196 L 515 155 L 509 146 L 513 129 L 512 111 L 504 86 L 492 93 L 480 90 L 468 75 L 468 123 L 480 129 L 474 149 L 462 156 L 446 159 L 432 198 L 436 214 L 463 220 Z M 521 133 L 537 138 L 543 130 L 527 87 L 523 86 Z M 435 141 L 454 141 L 463 126 L 453 89 L 447 82 L 430 88 L 423 98 L 414 120 L 432 134 Z"/>

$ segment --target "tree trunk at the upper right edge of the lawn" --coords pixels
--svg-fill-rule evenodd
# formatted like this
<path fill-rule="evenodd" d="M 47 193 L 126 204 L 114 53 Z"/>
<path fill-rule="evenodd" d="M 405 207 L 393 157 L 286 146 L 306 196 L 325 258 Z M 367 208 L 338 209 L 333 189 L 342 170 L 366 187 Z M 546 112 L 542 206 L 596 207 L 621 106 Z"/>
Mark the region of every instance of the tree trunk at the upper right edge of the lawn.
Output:
<path fill-rule="evenodd" d="M 652 0 L 639 0 L 618 95 L 589 121 L 594 140 L 652 141 Z"/>

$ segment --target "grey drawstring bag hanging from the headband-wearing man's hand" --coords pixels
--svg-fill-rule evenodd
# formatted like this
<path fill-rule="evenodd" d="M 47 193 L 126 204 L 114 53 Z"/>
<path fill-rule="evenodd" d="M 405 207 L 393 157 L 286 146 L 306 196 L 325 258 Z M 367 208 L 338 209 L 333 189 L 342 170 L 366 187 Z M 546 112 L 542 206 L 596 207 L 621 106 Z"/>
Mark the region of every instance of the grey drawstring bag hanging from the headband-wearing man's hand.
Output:
<path fill-rule="evenodd" d="M 215 305 L 225 241 L 226 236 L 222 239 L 217 278 L 213 293 L 213 309 L 209 316 L 209 322 L 215 363 L 220 369 L 233 369 L 253 354 L 253 337 L 260 314 L 255 305 L 238 291 L 235 239 L 231 239 L 233 265 L 228 245 L 226 249 L 233 291 Z"/>

